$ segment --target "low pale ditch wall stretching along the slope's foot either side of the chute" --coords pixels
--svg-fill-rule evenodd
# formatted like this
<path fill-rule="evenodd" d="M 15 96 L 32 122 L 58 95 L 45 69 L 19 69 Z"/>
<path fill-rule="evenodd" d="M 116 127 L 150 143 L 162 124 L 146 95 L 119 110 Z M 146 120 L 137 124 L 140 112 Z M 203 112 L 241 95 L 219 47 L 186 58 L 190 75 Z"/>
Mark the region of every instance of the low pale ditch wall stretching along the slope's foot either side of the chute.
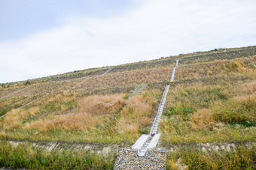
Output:
<path fill-rule="evenodd" d="M 120 152 L 120 146 L 117 144 L 113 145 L 92 145 L 92 144 L 78 144 L 78 143 L 65 143 L 65 142 L 21 142 L 21 141 L 12 141 L 12 140 L 0 140 L 0 142 L 8 142 L 12 146 L 17 147 L 17 145 L 29 144 L 34 147 L 44 148 L 47 151 L 90 151 L 93 154 L 103 154 L 107 156 L 108 154 L 117 154 Z M 166 151 L 168 153 L 176 152 L 178 149 L 185 148 L 194 148 L 198 151 L 236 151 L 236 148 L 239 146 L 244 146 L 245 148 L 256 148 L 256 142 L 242 142 L 242 143 L 201 143 L 201 144 L 187 144 L 187 145 L 169 145 L 166 147 L 161 147 L 160 145 L 157 148 L 160 151 Z M 125 146 L 123 146 L 125 147 Z M 128 147 L 127 147 L 128 148 Z M 129 149 L 125 149 L 129 151 Z"/>

